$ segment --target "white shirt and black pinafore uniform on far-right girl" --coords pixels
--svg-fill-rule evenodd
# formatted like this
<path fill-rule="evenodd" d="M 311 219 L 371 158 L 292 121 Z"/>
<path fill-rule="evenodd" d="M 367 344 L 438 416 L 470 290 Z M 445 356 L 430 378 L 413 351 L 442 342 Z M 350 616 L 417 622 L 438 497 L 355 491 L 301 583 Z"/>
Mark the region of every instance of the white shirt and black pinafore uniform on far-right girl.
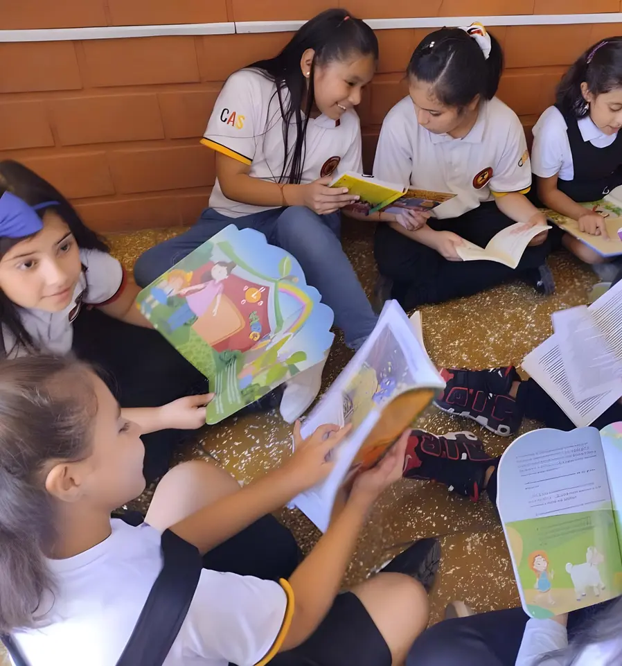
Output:
<path fill-rule="evenodd" d="M 549 107 L 533 128 L 533 173 L 558 175 L 558 189 L 574 201 L 603 198 L 622 184 L 622 136 L 605 134 L 589 115 L 577 119 Z"/>

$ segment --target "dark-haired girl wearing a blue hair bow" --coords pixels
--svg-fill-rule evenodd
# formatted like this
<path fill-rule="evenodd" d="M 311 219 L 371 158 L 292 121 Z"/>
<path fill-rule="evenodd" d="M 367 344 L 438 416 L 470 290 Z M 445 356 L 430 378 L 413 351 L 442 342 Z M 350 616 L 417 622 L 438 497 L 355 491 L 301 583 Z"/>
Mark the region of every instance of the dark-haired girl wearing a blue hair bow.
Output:
<path fill-rule="evenodd" d="M 138 292 L 59 191 L 23 164 L 0 162 L 3 356 L 73 351 L 109 376 L 124 408 L 156 408 L 156 427 L 143 431 L 151 482 L 168 469 L 181 430 L 205 422 L 208 387 L 148 328 L 134 304 Z"/>

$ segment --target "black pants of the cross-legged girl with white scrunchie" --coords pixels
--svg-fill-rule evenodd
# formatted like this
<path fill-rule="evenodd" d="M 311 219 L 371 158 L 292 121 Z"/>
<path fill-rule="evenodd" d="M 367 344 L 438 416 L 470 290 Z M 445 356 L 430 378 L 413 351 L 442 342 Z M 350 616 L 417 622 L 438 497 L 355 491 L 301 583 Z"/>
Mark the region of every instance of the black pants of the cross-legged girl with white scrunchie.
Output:
<path fill-rule="evenodd" d="M 452 220 L 428 221 L 435 231 L 454 231 L 480 247 L 486 247 L 498 231 L 513 224 L 495 202 L 484 202 Z M 470 296 L 512 280 L 542 265 L 550 249 L 548 238 L 542 245 L 527 247 L 514 270 L 496 261 L 447 261 L 435 249 L 403 236 L 389 225 L 378 225 L 374 239 L 378 269 L 393 281 L 392 297 L 406 310 Z"/>

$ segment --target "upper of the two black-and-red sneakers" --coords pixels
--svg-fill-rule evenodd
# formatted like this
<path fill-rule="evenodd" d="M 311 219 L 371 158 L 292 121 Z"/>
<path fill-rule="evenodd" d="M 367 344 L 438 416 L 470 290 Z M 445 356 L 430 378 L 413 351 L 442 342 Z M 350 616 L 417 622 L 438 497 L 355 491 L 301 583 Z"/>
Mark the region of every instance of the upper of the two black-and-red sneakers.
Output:
<path fill-rule="evenodd" d="M 439 410 L 472 419 L 501 437 L 518 430 L 523 415 L 509 393 L 521 379 L 513 365 L 492 370 L 442 368 L 441 375 L 447 385 L 434 401 Z"/>

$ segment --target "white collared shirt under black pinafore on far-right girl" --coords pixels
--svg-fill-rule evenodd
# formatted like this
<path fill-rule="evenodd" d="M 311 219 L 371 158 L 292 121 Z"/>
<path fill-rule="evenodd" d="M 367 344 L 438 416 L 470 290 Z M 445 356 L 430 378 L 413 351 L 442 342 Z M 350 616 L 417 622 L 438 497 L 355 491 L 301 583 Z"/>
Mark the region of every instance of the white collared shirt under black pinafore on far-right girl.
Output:
<path fill-rule="evenodd" d="M 595 148 L 607 148 L 616 140 L 617 134 L 605 134 L 599 130 L 589 115 L 578 119 L 583 141 Z M 557 107 L 549 107 L 533 127 L 531 169 L 540 178 L 558 175 L 562 180 L 574 179 L 574 164 L 568 139 L 568 125 Z"/>

